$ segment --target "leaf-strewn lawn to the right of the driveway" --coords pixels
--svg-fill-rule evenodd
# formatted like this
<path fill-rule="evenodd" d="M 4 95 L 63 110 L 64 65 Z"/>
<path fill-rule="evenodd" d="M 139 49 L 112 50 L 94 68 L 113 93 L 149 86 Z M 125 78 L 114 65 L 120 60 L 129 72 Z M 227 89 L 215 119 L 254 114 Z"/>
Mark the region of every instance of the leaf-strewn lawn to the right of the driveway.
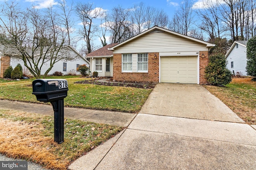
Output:
<path fill-rule="evenodd" d="M 256 125 L 256 82 L 233 78 L 226 87 L 204 86 L 248 124 Z"/>

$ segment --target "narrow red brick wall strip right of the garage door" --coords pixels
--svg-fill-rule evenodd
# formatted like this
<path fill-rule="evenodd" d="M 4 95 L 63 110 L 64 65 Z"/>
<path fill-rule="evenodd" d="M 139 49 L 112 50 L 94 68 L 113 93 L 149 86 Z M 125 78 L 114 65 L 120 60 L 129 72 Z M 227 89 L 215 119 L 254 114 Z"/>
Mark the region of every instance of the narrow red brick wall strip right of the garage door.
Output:
<path fill-rule="evenodd" d="M 204 57 L 202 57 L 204 55 Z M 199 84 L 206 84 L 207 81 L 204 78 L 205 67 L 208 65 L 208 51 L 199 52 Z"/>

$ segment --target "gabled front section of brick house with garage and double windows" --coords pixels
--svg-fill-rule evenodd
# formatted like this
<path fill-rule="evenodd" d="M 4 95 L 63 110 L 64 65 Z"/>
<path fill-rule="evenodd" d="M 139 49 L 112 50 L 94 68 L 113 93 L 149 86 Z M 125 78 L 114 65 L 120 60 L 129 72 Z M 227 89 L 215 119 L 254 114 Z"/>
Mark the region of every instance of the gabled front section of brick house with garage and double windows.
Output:
<path fill-rule="evenodd" d="M 109 48 L 113 51 L 113 79 L 204 84 L 208 51 L 214 46 L 154 26 Z"/>

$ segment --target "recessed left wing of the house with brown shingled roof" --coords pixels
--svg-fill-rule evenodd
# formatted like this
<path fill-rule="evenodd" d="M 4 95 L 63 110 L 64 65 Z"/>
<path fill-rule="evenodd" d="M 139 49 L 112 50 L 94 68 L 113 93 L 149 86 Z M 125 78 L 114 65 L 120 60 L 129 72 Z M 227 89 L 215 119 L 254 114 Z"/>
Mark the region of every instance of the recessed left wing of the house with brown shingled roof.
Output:
<path fill-rule="evenodd" d="M 97 71 L 99 77 L 113 77 L 113 51 L 108 48 L 117 44 L 108 44 L 86 55 L 87 58 L 90 58 L 91 72 Z"/>

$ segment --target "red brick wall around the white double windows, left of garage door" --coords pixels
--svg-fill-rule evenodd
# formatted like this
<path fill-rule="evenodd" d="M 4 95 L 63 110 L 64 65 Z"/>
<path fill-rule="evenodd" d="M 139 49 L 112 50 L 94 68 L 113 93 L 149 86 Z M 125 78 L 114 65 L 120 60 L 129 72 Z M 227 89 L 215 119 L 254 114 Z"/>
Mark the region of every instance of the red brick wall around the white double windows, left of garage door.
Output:
<path fill-rule="evenodd" d="M 113 59 L 116 81 L 159 82 L 159 53 L 148 53 L 148 73 L 122 73 L 122 54 L 114 54 Z"/>

